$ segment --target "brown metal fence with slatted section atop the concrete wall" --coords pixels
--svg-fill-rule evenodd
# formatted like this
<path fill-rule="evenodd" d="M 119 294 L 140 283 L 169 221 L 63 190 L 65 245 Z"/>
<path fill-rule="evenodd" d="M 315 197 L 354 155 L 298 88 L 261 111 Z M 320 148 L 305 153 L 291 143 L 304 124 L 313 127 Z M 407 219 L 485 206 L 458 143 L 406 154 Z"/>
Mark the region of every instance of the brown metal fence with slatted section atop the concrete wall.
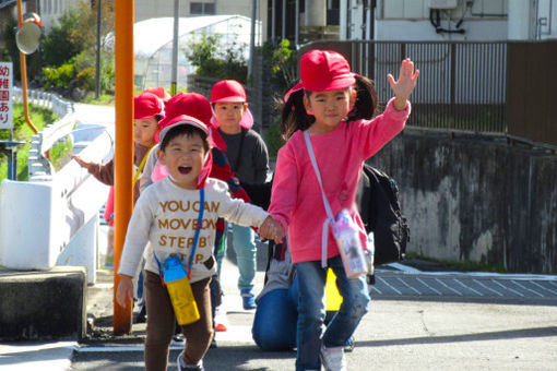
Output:
<path fill-rule="evenodd" d="M 557 145 L 557 124 L 552 124 L 557 113 L 549 108 L 557 77 L 542 65 L 557 57 L 555 40 L 316 41 L 298 56 L 316 48 L 341 52 L 354 72 L 375 80 L 382 104 L 392 95 L 387 74 L 396 76 L 401 60 L 411 58 L 420 76 L 408 124 Z"/>

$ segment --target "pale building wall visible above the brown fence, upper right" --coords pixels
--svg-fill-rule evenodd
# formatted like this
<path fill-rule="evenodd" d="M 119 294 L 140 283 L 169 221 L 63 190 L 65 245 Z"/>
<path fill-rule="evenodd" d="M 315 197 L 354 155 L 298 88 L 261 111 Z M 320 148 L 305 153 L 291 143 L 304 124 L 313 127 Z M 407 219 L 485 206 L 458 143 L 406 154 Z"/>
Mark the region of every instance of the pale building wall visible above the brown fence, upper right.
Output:
<path fill-rule="evenodd" d="M 311 1 L 311 0 L 309 0 Z M 341 0 L 341 39 L 557 38 L 557 0 Z"/>

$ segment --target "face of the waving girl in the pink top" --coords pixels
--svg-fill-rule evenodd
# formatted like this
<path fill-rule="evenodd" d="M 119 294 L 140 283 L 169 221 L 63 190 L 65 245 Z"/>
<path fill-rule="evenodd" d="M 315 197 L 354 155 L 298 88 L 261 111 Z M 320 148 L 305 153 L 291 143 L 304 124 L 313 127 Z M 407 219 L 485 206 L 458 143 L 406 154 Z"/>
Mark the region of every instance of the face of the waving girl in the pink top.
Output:
<path fill-rule="evenodd" d="M 309 97 L 304 96 L 306 110 L 316 117 L 312 127 L 322 132 L 336 128 L 352 107 L 353 96 L 349 88 L 341 88 L 328 92 L 315 92 Z"/>

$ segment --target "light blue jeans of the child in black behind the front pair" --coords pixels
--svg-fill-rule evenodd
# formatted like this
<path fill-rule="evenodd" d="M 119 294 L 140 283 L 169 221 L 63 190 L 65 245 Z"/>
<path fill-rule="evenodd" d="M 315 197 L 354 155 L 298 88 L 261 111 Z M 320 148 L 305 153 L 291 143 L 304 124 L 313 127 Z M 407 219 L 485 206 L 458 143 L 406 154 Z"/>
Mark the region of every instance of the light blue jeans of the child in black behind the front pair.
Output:
<path fill-rule="evenodd" d="M 256 235 L 250 227 L 241 227 L 232 223 L 230 226 L 236 262 L 240 273 L 238 288 L 251 290 L 256 277 Z"/>

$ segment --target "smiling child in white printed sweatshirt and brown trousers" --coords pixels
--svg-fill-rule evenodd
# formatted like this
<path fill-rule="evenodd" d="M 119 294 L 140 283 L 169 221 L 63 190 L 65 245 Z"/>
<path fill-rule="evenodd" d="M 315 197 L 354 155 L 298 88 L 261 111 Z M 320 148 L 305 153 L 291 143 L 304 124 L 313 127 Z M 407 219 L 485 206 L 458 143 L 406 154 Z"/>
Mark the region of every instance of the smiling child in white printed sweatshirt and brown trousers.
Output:
<path fill-rule="evenodd" d="M 259 227 L 263 238 L 284 237 L 281 226 L 265 211 L 233 200 L 225 182 L 208 178 L 212 165 L 210 149 L 209 129 L 203 122 L 186 115 L 169 120 L 161 130 L 157 151 L 158 160 L 169 175 L 142 192 L 128 226 L 116 300 L 126 306 L 132 295 L 132 276 L 150 241 L 145 263 L 147 371 L 166 370 L 175 331 L 175 313 L 161 282 L 163 272 L 157 260 L 165 262 L 170 255 L 177 256 L 191 272 L 191 289 L 200 319 L 182 326 L 186 344 L 177 367 L 204 370 L 202 359 L 213 336 L 209 286 L 216 273 L 213 243 L 217 218 Z"/>

